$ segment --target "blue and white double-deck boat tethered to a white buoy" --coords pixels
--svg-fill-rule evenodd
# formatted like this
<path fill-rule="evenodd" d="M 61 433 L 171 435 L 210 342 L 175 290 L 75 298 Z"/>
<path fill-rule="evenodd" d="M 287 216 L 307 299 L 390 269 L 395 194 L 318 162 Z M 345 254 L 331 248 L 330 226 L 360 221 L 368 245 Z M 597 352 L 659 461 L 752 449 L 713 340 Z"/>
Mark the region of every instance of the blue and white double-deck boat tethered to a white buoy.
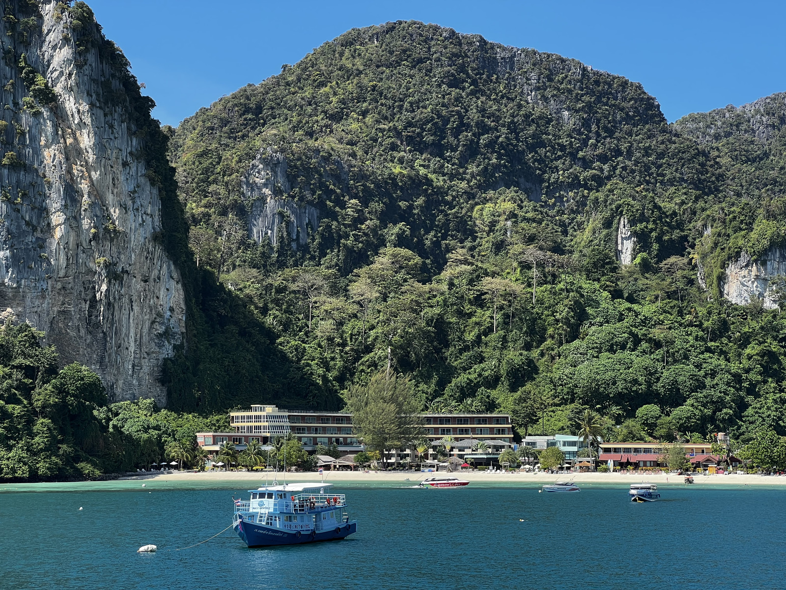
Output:
<path fill-rule="evenodd" d="M 250 489 L 248 501 L 235 500 L 233 528 L 248 547 L 338 540 L 355 532 L 343 494 L 332 484 L 298 483 Z"/>

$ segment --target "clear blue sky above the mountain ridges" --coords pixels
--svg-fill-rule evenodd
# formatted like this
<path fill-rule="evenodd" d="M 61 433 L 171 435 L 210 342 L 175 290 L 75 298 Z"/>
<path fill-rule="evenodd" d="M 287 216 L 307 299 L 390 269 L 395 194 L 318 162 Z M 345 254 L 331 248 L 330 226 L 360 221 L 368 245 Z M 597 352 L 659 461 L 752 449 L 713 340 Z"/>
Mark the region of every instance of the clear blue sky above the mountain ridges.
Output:
<path fill-rule="evenodd" d="M 786 2 L 88 0 L 177 125 L 354 27 L 423 20 L 641 82 L 670 121 L 786 91 Z"/>

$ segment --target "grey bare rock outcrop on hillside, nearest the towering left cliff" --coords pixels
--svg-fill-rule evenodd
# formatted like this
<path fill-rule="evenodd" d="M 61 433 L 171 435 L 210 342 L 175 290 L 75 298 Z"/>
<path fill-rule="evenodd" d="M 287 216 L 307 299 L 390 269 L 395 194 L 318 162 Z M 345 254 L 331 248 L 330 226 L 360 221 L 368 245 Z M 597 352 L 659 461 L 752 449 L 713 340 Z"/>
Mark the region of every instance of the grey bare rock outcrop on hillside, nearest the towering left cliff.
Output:
<path fill-rule="evenodd" d="M 241 181 L 244 200 L 249 204 L 248 236 L 258 244 L 276 245 L 279 227 L 293 250 L 308 243 L 309 226 L 316 230 L 319 212 L 313 205 L 288 198 L 287 160 L 280 153 L 263 149 L 252 161 Z"/>

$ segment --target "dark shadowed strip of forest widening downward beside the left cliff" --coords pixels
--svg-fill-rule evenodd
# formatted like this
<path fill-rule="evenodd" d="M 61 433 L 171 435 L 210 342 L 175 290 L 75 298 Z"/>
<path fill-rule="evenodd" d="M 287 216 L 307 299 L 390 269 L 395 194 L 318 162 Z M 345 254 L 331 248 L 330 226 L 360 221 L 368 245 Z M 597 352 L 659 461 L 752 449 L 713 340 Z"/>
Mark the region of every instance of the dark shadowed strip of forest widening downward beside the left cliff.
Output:
<path fill-rule="evenodd" d="M 180 271 L 186 302 L 185 341 L 163 367 L 169 407 L 203 413 L 250 404 L 340 407 L 340 396 L 293 363 L 241 297 L 216 284 L 211 271 L 196 267 L 174 168 L 167 160 L 169 136 L 157 121 L 151 123 L 146 151 L 160 187 L 163 230 L 158 238 Z"/>

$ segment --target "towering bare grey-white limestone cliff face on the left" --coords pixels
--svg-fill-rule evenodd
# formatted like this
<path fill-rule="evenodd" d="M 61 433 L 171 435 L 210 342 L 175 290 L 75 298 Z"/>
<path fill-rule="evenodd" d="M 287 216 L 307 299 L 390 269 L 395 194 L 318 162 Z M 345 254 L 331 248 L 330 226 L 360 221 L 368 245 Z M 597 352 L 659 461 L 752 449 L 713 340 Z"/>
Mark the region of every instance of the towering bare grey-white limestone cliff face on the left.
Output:
<path fill-rule="evenodd" d="M 46 331 L 64 363 L 97 371 L 110 400 L 166 404 L 160 371 L 185 304 L 156 239 L 146 146 L 89 9 L 39 8 L 0 21 L 0 308 Z M 50 105 L 36 85 L 53 90 Z"/>

